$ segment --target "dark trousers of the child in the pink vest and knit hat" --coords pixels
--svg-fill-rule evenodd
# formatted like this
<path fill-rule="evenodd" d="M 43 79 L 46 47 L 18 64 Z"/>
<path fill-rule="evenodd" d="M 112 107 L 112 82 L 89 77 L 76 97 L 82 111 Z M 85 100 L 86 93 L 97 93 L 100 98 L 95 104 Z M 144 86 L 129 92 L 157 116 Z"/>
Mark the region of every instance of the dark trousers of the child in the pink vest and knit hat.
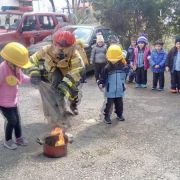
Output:
<path fill-rule="evenodd" d="M 147 84 L 147 70 L 144 67 L 136 69 L 136 83 Z"/>

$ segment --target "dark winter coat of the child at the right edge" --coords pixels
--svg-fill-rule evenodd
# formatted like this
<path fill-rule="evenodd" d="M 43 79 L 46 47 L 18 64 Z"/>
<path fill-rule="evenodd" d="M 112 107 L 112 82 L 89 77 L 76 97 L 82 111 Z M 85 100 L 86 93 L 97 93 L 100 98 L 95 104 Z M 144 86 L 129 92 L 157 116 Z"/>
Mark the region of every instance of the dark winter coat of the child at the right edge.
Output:
<path fill-rule="evenodd" d="M 169 67 L 170 71 L 173 72 L 173 66 L 174 66 L 174 57 L 177 56 L 177 48 L 173 47 L 166 58 L 166 64 L 165 66 Z"/>

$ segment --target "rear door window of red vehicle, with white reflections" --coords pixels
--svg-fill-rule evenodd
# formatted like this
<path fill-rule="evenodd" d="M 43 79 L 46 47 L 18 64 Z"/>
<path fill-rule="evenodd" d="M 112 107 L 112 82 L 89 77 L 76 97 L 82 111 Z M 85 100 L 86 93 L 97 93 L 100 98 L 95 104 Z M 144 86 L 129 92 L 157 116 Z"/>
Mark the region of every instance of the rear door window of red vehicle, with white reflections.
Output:
<path fill-rule="evenodd" d="M 55 27 L 52 16 L 39 16 L 39 23 L 41 29 L 54 29 Z"/>

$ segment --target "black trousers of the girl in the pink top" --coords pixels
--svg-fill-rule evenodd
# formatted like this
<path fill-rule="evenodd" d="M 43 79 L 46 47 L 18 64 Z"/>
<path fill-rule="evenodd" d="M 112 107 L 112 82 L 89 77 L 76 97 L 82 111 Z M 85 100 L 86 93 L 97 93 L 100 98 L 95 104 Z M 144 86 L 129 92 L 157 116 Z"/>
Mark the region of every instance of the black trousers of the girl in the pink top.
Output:
<path fill-rule="evenodd" d="M 19 138 L 22 135 L 21 122 L 18 107 L 5 108 L 0 106 L 0 110 L 7 120 L 5 125 L 5 139 L 6 141 L 12 139 L 13 130 L 15 132 L 15 137 Z"/>

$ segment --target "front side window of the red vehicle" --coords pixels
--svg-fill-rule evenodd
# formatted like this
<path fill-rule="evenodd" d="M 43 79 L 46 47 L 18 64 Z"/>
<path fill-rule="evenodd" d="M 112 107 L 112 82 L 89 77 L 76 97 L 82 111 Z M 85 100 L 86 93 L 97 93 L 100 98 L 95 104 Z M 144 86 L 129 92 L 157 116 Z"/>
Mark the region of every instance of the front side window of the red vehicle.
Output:
<path fill-rule="evenodd" d="M 37 20 L 35 16 L 27 16 L 23 24 L 23 31 L 33 31 L 37 29 Z"/>

